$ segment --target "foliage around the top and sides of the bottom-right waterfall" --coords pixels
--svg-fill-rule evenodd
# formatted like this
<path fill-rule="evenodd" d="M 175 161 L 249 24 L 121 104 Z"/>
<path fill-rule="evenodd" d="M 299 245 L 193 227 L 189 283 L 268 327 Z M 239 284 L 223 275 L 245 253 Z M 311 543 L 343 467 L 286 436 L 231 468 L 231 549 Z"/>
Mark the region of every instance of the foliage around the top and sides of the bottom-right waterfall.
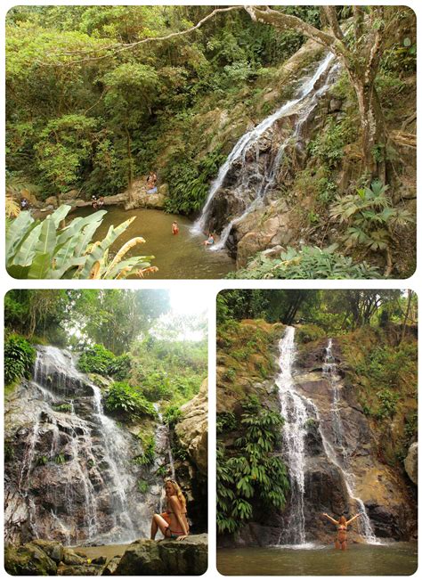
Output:
<path fill-rule="evenodd" d="M 268 450 L 270 456 L 279 457 L 282 449 L 282 438 L 271 435 L 272 415 L 278 409 L 272 385 L 280 371 L 277 343 L 287 325 L 296 327 L 299 370 L 309 353 L 325 352 L 328 338 L 336 341 L 346 388 L 353 390 L 376 434 L 377 461 L 402 472 L 409 446 L 418 438 L 418 298 L 413 291 L 223 290 L 217 296 L 217 518 L 221 534 L 237 532 L 251 520 L 261 521 L 265 513 L 263 497 L 256 499 L 264 493 L 261 480 L 253 478 L 246 491 L 239 482 L 247 478 L 248 483 L 252 477 L 248 453 L 260 453 L 255 447 L 255 437 L 262 435 L 259 429 L 265 430 L 269 445 L 275 445 Z M 255 404 L 254 421 L 260 423 L 253 435 L 244 421 L 251 404 Z M 280 411 L 278 420 L 282 437 Z M 283 478 L 272 479 L 271 472 L 266 475 L 280 502 L 274 507 L 282 511 L 288 487 L 276 491 Z M 229 508 L 234 505 L 236 486 L 240 504 L 234 513 Z"/>

